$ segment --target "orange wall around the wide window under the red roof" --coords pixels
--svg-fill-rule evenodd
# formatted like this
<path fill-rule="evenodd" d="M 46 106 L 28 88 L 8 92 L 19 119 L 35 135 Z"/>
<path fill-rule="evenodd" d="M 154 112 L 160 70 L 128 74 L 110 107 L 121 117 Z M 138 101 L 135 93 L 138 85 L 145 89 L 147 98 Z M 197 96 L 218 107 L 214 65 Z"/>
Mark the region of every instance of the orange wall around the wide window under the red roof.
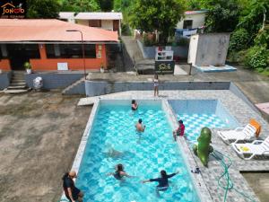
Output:
<path fill-rule="evenodd" d="M 100 69 L 101 64 L 107 67 L 106 46 L 101 45 L 100 58 L 85 58 L 86 69 Z M 39 59 L 30 59 L 32 70 L 36 71 L 50 71 L 57 70 L 57 63 L 68 63 L 69 70 L 83 70 L 83 58 L 47 58 L 46 46 L 39 45 L 40 57 Z M 96 45 L 96 55 L 98 55 L 99 46 Z"/>

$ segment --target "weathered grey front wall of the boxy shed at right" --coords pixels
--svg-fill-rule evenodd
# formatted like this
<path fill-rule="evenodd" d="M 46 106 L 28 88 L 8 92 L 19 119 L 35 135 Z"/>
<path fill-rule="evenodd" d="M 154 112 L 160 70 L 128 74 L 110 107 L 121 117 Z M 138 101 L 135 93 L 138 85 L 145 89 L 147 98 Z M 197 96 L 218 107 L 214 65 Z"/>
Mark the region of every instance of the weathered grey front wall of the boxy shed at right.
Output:
<path fill-rule="evenodd" d="M 196 36 L 196 35 L 195 35 Z M 194 38 L 191 38 L 191 40 Z M 230 33 L 200 34 L 195 51 L 195 66 L 224 66 L 229 47 Z"/>

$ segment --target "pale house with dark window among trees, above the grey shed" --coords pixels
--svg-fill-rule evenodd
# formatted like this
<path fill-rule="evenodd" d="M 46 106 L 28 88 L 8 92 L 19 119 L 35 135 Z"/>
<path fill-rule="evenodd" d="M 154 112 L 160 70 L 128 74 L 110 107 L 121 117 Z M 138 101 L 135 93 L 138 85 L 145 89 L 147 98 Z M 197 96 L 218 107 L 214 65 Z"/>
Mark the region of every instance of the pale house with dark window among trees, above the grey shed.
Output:
<path fill-rule="evenodd" d="M 178 22 L 176 29 L 196 29 L 204 27 L 206 11 L 187 11 L 185 17 Z"/>

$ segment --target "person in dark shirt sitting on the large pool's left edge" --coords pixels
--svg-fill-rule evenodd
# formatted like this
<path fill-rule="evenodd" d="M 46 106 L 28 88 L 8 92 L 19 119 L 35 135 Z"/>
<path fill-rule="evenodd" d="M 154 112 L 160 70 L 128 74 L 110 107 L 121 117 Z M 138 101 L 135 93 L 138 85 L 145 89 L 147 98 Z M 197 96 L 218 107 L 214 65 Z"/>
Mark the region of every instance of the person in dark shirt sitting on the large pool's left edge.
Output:
<path fill-rule="evenodd" d="M 65 191 L 65 197 L 68 198 L 71 202 L 75 202 L 76 200 L 82 202 L 83 193 L 80 189 L 77 189 L 74 186 L 74 178 L 76 178 L 75 171 L 66 172 L 63 176 L 63 188 Z"/>

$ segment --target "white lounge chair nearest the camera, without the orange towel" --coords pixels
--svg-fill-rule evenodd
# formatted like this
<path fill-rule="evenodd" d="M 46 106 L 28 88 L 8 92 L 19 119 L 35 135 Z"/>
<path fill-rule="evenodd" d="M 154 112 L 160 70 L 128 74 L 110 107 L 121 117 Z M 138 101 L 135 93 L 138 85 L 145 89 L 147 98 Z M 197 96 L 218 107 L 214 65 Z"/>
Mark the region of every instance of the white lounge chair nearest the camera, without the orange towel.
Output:
<path fill-rule="evenodd" d="M 250 160 L 254 156 L 268 155 L 269 154 L 269 136 L 265 140 L 255 140 L 252 143 L 246 144 L 231 144 L 232 148 L 239 156 L 245 160 Z M 245 155 L 250 155 L 245 157 Z"/>

